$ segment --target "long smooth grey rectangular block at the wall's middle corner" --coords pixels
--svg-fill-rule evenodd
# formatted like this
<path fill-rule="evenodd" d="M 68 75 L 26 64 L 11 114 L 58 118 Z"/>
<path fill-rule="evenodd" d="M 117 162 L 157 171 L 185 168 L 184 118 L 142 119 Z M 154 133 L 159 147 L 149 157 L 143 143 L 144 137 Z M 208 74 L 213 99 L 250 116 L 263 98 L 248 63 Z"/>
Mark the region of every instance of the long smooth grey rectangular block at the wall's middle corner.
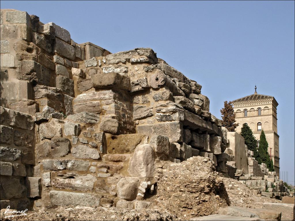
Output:
<path fill-rule="evenodd" d="M 143 133 L 148 136 L 163 135 L 169 137 L 170 142 L 183 141 L 183 128 L 180 121 L 165 122 L 152 125 L 137 126 L 137 133 Z"/>

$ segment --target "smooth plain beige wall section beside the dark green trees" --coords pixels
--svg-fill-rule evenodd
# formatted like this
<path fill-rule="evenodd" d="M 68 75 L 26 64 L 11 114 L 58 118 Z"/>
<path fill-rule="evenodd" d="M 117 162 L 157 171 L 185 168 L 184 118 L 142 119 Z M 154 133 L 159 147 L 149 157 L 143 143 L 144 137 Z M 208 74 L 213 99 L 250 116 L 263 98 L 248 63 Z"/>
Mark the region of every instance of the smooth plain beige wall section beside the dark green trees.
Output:
<path fill-rule="evenodd" d="M 237 169 L 244 169 L 244 173 L 248 174 L 245 139 L 237 132 L 227 132 L 227 140 L 227 148 L 231 149 L 235 156 Z"/>

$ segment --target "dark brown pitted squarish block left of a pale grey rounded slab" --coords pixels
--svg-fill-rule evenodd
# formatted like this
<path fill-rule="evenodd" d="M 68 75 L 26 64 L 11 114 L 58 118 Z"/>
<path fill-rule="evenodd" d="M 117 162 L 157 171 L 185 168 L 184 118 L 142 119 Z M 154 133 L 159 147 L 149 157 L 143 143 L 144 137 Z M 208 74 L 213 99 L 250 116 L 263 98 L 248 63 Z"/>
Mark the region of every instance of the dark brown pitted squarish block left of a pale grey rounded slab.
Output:
<path fill-rule="evenodd" d="M 52 157 L 63 157 L 70 151 L 70 140 L 68 138 L 54 137 L 51 139 L 50 148 Z"/>

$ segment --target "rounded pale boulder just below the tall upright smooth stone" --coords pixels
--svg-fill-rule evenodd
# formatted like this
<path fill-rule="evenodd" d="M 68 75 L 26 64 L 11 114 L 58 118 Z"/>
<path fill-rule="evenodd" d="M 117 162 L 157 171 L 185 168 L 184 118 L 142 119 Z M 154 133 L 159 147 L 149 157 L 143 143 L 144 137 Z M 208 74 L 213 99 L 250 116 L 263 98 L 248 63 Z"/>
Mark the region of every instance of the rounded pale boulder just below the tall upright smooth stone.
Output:
<path fill-rule="evenodd" d="M 117 195 L 121 199 L 133 200 L 136 198 L 138 186 L 137 177 L 123 177 L 117 183 Z"/>

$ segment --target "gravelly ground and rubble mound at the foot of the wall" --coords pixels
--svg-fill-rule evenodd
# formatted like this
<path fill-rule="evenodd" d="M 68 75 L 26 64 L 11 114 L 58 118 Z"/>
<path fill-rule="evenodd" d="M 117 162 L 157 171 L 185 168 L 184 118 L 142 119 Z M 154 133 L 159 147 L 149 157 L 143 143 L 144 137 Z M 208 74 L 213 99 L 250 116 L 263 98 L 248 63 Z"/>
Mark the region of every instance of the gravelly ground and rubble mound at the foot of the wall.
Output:
<path fill-rule="evenodd" d="M 263 202 L 281 202 L 220 176 L 209 158 L 192 157 L 180 164 L 160 161 L 156 167 L 157 191 L 146 196 L 148 209 L 56 207 L 12 218 L 5 218 L 2 209 L 1 220 L 189 220 L 216 214 L 219 207 L 262 208 Z"/>

